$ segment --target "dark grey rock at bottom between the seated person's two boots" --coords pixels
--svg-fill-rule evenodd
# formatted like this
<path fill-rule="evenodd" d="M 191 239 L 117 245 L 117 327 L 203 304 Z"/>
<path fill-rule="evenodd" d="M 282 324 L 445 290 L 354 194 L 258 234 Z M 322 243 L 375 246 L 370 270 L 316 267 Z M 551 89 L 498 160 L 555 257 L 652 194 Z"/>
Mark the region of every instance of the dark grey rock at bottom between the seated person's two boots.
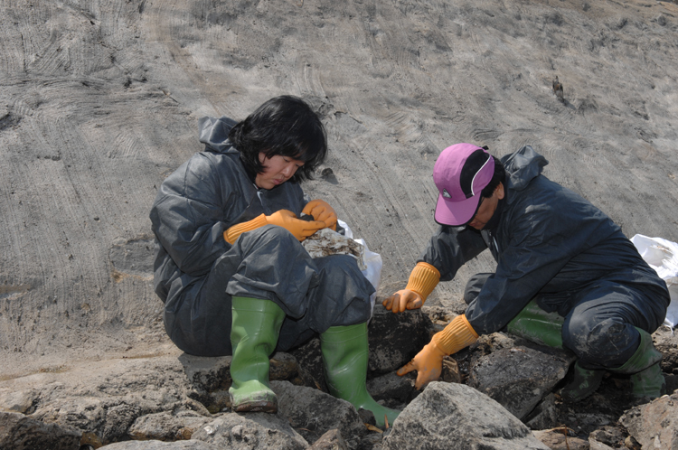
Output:
<path fill-rule="evenodd" d="M 365 427 L 349 402 L 288 381 L 271 381 L 270 384 L 278 395 L 278 414 L 287 417 L 290 425 L 308 443 L 313 444 L 326 432 L 337 429 L 345 436 L 349 448 L 357 447 Z"/>

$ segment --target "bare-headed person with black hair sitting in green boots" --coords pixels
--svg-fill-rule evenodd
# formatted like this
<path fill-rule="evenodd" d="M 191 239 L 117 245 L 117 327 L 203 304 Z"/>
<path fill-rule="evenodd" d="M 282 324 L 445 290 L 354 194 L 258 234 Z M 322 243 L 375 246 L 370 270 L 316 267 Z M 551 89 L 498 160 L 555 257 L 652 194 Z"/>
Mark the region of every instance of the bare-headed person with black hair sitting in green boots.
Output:
<path fill-rule="evenodd" d="M 320 118 L 281 96 L 241 122 L 198 126 L 204 151 L 165 179 L 150 213 L 170 339 L 192 355 L 232 355 L 234 411 L 276 412 L 270 354 L 319 333 L 330 393 L 392 422 L 399 411 L 365 389 L 374 287 L 354 258 L 311 258 L 301 245 L 337 229 L 332 207 L 300 187 L 327 154 Z"/>

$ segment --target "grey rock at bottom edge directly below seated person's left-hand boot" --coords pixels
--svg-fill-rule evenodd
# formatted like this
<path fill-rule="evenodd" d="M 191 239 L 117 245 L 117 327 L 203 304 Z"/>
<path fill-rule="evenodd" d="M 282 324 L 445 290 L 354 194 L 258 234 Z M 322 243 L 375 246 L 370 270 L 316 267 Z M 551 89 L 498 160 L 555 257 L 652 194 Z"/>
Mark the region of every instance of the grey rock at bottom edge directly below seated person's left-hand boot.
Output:
<path fill-rule="evenodd" d="M 192 439 L 230 450 L 300 450 L 308 446 L 279 413 L 224 414 L 193 433 Z"/>

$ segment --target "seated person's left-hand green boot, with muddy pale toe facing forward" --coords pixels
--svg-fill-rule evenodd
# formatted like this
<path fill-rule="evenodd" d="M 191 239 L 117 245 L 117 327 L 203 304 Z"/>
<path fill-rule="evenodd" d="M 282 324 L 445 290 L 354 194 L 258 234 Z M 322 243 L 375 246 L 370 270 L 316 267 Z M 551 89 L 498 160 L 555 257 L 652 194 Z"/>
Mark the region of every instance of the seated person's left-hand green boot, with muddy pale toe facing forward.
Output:
<path fill-rule="evenodd" d="M 275 413 L 278 398 L 268 385 L 269 357 L 285 313 L 270 300 L 248 297 L 233 297 L 232 312 L 231 408 Z"/>

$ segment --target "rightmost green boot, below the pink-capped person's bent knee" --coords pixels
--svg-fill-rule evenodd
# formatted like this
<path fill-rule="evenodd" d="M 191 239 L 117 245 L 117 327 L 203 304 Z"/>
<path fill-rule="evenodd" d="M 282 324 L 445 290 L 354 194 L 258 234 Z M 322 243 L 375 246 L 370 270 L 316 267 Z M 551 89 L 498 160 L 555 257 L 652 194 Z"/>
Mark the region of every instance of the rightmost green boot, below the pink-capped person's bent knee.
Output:
<path fill-rule="evenodd" d="M 662 397 L 666 381 L 659 362 L 662 353 L 654 348 L 652 335 L 636 327 L 640 333 L 640 344 L 636 352 L 623 366 L 610 371 L 631 374 L 631 393 L 636 398 Z"/>

